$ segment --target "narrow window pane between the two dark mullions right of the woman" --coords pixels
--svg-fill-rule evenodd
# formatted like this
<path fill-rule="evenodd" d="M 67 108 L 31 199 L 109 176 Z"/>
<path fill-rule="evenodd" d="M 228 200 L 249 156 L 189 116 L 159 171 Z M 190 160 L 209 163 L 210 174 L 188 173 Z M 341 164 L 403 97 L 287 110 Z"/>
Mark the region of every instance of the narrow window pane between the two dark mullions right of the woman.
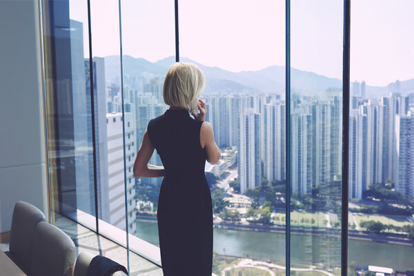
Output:
<path fill-rule="evenodd" d="M 290 271 L 340 275 L 343 3 L 290 10 Z"/>

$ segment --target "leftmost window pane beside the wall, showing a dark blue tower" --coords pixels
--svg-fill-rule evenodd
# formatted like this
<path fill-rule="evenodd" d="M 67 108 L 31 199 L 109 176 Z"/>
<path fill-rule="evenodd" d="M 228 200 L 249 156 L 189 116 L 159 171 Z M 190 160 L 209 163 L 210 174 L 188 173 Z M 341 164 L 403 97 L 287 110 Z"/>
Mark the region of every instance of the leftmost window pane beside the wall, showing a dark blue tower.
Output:
<path fill-rule="evenodd" d="M 95 216 L 86 12 L 80 1 L 43 5 L 52 210 L 76 221 Z"/>

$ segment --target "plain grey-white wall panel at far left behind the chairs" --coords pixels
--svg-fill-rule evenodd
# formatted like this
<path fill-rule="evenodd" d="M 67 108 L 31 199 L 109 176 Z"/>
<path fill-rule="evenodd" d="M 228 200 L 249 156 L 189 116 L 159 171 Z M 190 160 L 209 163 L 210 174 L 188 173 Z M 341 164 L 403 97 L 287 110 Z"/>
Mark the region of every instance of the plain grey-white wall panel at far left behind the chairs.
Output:
<path fill-rule="evenodd" d="M 0 1 L 0 233 L 17 200 L 48 217 L 38 1 Z"/>

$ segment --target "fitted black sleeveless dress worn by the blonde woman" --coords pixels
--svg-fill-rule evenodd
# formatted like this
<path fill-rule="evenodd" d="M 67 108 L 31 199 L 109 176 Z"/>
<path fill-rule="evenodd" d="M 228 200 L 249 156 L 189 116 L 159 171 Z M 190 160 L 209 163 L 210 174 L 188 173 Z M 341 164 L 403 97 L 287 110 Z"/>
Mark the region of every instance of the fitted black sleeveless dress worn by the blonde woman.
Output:
<path fill-rule="evenodd" d="M 148 137 L 166 175 L 158 199 L 158 230 L 164 275 L 211 276 L 213 209 L 200 146 L 202 121 L 187 110 L 166 110 L 150 120 Z"/>

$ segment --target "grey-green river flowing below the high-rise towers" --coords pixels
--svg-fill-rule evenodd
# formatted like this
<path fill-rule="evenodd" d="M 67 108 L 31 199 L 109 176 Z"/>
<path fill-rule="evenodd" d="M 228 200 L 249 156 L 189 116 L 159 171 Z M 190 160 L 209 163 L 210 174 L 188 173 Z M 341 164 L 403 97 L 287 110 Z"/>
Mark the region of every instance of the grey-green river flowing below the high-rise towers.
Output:
<path fill-rule="evenodd" d="M 137 235 L 159 246 L 155 221 L 137 221 Z M 284 261 L 283 233 L 214 228 L 214 250 L 221 255 Z M 340 266 L 340 237 L 291 234 L 291 264 L 324 263 Z M 348 239 L 348 261 L 357 265 L 414 269 L 414 247 Z"/>

